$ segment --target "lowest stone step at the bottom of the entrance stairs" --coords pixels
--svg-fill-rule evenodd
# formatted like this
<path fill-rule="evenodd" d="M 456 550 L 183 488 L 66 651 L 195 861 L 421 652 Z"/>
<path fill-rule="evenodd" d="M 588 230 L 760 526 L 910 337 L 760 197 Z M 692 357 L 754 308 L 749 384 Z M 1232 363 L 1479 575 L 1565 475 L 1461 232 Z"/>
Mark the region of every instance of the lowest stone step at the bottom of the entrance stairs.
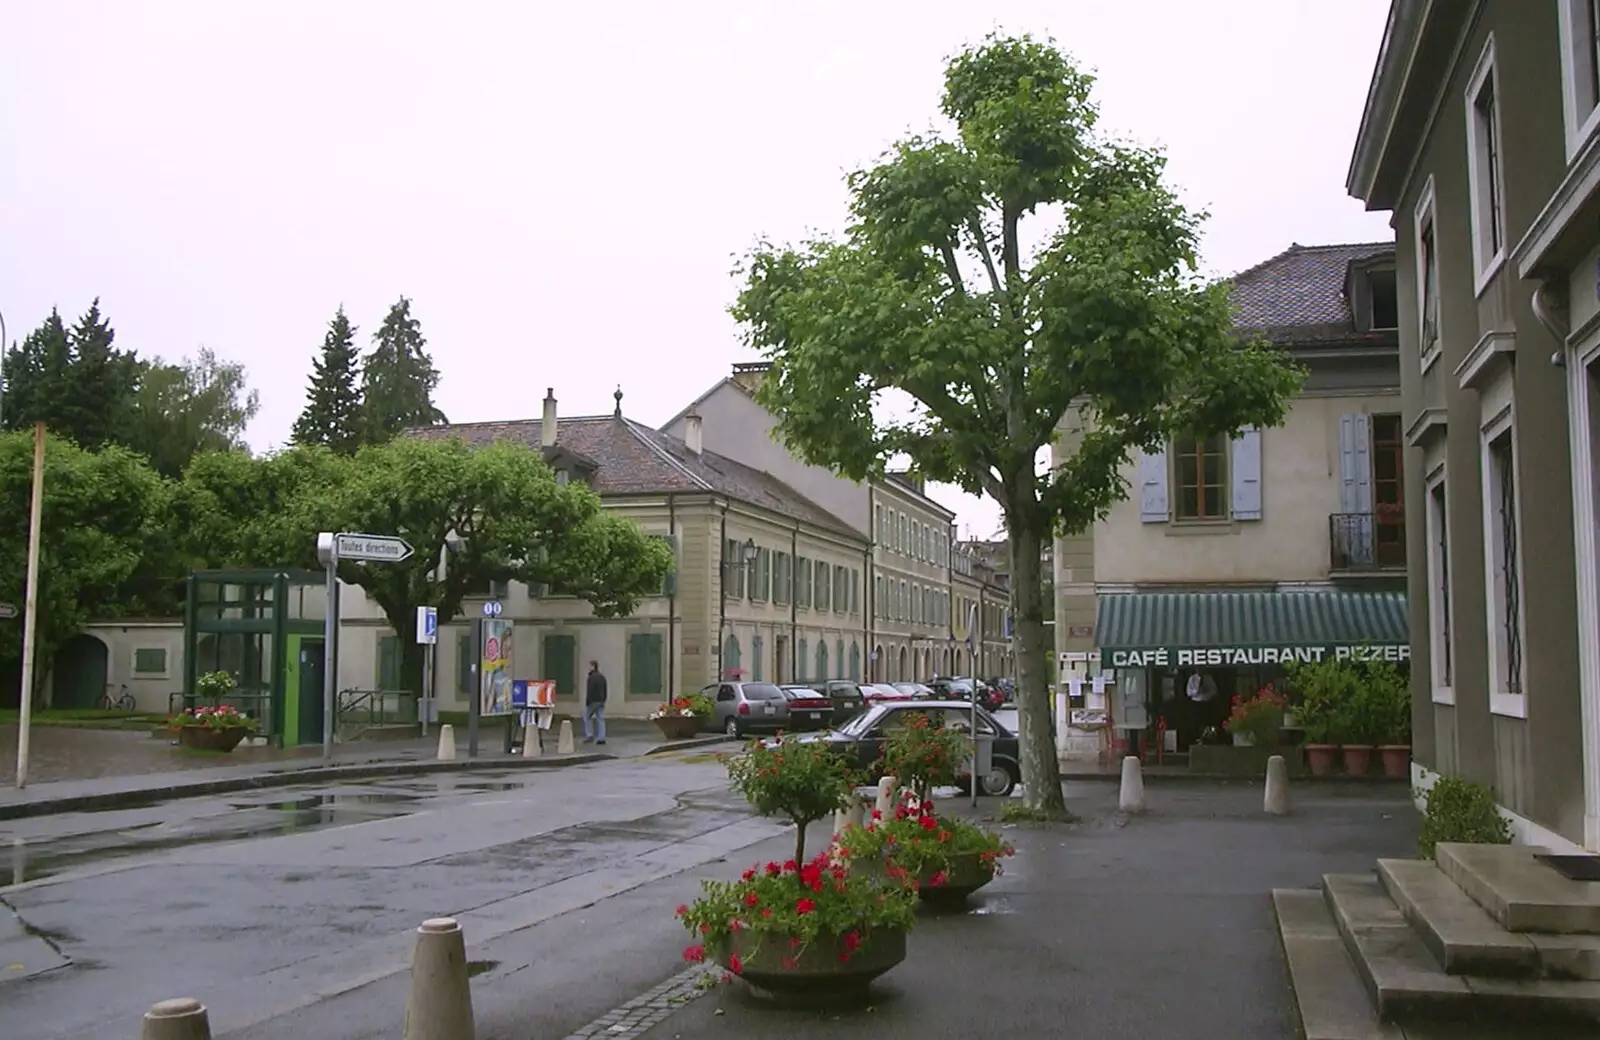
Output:
<path fill-rule="evenodd" d="M 1275 888 L 1272 910 L 1306 1040 L 1405 1040 L 1378 1019 L 1320 891 Z"/>

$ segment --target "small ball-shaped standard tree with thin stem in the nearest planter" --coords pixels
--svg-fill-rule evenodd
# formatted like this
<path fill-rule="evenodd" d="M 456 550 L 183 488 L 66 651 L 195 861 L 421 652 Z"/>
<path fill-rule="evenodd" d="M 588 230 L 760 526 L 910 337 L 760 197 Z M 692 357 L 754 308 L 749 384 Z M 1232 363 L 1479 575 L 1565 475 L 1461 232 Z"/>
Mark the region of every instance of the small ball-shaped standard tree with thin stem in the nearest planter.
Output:
<path fill-rule="evenodd" d="M 752 741 L 728 758 L 728 779 L 762 816 L 795 826 L 795 862 L 805 861 L 805 829 L 854 797 L 856 776 L 822 741 Z"/>

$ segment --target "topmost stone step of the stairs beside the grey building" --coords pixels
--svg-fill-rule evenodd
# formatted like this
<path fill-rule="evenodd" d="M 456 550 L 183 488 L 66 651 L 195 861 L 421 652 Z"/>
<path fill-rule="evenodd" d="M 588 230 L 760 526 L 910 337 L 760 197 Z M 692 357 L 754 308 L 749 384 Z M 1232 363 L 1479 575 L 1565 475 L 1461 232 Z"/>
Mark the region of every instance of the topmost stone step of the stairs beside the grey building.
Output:
<path fill-rule="evenodd" d="M 1451 845 L 1438 869 L 1507 931 L 1600 934 L 1600 882 L 1573 882 L 1533 858 L 1526 845 Z"/>

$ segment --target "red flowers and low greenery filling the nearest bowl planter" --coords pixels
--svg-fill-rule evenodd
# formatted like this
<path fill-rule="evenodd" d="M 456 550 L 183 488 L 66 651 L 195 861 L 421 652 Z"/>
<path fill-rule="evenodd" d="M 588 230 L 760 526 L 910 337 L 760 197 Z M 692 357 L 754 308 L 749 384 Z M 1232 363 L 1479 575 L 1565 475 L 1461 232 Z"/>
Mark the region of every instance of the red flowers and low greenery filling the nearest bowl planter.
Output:
<path fill-rule="evenodd" d="M 838 944 L 838 960 L 848 963 L 877 928 L 902 931 L 917 920 L 917 893 L 835 862 L 827 850 L 810 862 L 768 862 L 750 867 L 736 882 L 701 882 L 706 894 L 678 907 L 694 944 L 685 960 L 726 955 L 728 970 L 744 965 L 731 954 L 734 933 L 747 933 L 741 949 L 749 957 L 766 942 L 781 942 L 781 966 L 797 966 L 798 957 L 818 939 Z"/>

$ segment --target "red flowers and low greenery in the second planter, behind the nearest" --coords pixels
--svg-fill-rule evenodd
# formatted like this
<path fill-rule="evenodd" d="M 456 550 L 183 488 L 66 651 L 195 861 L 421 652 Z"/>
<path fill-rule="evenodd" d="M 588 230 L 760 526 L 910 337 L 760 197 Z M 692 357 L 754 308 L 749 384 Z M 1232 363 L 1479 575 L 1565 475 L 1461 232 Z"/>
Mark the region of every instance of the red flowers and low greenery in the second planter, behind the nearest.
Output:
<path fill-rule="evenodd" d="M 950 861 L 965 854 L 976 854 L 986 867 L 1002 874 L 1000 859 L 1016 851 L 998 834 L 939 816 L 933 802 L 915 797 L 902 797 L 886 819 L 872 810 L 864 827 L 850 827 L 837 842 L 850 859 L 882 862 L 885 875 L 912 888 L 922 878 L 933 886 L 942 885 Z"/>

